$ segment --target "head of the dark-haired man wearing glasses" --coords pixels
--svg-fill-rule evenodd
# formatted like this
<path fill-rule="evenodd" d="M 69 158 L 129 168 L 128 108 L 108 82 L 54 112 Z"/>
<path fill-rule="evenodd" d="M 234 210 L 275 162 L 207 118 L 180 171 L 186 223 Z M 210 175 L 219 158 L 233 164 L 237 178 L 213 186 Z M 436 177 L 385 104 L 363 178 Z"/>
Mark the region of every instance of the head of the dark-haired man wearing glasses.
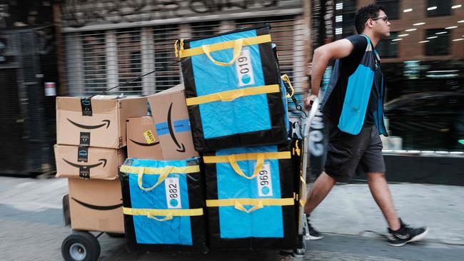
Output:
<path fill-rule="evenodd" d="M 390 36 L 390 22 L 385 14 L 385 7 L 370 4 L 359 9 L 355 16 L 355 27 L 358 34 L 371 31 L 380 39 Z"/>

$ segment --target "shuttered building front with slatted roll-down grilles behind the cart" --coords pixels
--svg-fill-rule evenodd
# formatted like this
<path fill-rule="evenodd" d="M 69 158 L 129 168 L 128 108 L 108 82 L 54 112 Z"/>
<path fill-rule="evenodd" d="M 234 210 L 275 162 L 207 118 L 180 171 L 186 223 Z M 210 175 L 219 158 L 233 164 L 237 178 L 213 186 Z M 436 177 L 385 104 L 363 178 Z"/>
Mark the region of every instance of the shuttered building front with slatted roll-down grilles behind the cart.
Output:
<path fill-rule="evenodd" d="M 307 84 L 309 1 L 64 1 L 60 4 L 63 94 L 90 96 L 158 70 L 113 93 L 147 95 L 182 83 L 177 39 L 271 25 L 281 72 Z M 305 11 L 306 10 L 306 11 Z M 164 68 L 166 64 L 170 64 Z"/>

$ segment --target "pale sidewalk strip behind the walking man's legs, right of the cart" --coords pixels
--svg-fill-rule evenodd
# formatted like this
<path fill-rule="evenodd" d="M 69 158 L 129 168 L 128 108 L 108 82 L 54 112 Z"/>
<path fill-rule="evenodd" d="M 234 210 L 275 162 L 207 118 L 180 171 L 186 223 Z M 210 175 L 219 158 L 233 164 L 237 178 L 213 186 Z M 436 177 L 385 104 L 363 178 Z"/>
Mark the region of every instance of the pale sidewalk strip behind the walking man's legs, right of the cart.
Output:
<path fill-rule="evenodd" d="M 427 225 L 428 241 L 464 246 L 464 187 L 410 183 L 389 187 L 405 223 Z M 311 223 L 321 232 L 363 237 L 376 236 L 365 230 L 385 234 L 387 227 L 367 184 L 336 185 L 314 210 Z"/>

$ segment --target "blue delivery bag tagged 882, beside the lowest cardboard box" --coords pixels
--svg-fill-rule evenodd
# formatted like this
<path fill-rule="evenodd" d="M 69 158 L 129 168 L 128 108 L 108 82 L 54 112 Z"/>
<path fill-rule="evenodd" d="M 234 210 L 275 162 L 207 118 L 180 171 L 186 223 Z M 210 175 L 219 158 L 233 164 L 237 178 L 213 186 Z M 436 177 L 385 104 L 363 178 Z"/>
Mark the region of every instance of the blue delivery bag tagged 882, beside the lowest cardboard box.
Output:
<path fill-rule="evenodd" d="M 119 171 L 129 249 L 207 250 L 200 163 L 199 158 L 124 162 Z"/>

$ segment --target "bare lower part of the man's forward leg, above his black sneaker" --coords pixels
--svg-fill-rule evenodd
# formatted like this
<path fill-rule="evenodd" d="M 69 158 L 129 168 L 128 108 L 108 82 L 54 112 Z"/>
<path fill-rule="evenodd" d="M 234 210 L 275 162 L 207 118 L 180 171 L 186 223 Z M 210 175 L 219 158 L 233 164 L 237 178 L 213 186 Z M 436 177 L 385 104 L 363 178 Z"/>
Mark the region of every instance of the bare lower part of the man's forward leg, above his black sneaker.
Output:
<path fill-rule="evenodd" d="M 382 210 L 385 220 L 391 230 L 400 229 L 400 220 L 396 214 L 393 199 L 391 198 L 390 190 L 388 189 L 385 173 L 368 173 L 368 184 L 370 193 L 372 194 L 375 203 Z"/>

